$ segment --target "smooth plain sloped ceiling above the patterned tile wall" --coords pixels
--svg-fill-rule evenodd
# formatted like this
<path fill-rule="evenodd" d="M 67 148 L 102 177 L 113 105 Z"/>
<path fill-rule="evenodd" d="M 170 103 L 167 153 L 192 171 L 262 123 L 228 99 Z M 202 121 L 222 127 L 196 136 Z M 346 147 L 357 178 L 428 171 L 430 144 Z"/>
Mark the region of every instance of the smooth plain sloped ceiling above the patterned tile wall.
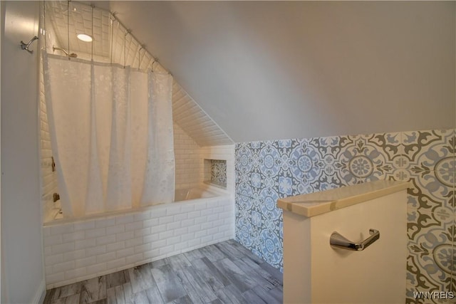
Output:
<path fill-rule="evenodd" d="M 455 2 L 111 1 L 234 142 L 455 127 Z"/>

